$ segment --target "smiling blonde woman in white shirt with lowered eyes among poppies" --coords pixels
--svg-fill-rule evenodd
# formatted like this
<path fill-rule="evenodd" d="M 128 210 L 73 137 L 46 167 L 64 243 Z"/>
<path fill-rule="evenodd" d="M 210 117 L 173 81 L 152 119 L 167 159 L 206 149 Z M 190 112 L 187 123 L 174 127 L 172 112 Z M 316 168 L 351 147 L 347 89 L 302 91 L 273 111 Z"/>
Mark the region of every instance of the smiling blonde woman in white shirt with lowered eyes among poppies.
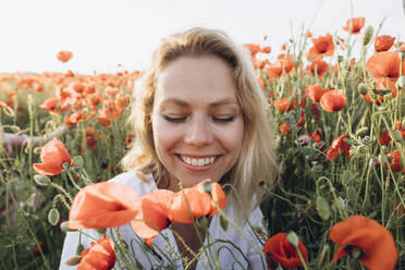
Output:
<path fill-rule="evenodd" d="M 216 29 L 192 28 L 171 35 L 155 51 L 134 99 L 130 123 L 136 140 L 123 158 L 123 168 L 128 172 L 111 182 L 126 184 L 140 196 L 157 188 L 176 192 L 180 183 L 191 187 L 207 179 L 231 184 L 249 223 L 261 224 L 259 183 L 273 180 L 275 140 L 266 98 L 242 48 Z M 262 243 L 245 222 L 231 188 L 226 198 L 226 216 L 248 240 L 233 226 L 222 230 L 214 216 L 209 223 L 210 238 L 229 242 L 211 245 L 218 254 L 213 257 L 221 269 L 265 268 Z M 170 266 L 164 262 L 164 254 L 172 257 L 168 260 L 175 261 L 176 269 L 182 269 L 176 254 L 192 259 L 191 254 L 201 247 L 193 224 L 173 223 L 162 231 L 152 243 L 155 257 L 142 253 L 130 225 L 121 226 L 119 232 L 146 269 Z M 99 236 L 93 230 L 86 233 L 96 240 Z M 172 250 L 168 250 L 164 237 Z M 78 241 L 77 232 L 68 233 L 61 269 L 69 269 L 63 262 L 75 254 Z M 90 241 L 81 238 L 85 248 Z M 202 253 L 192 268 L 207 268 L 212 259 L 208 257 Z"/>

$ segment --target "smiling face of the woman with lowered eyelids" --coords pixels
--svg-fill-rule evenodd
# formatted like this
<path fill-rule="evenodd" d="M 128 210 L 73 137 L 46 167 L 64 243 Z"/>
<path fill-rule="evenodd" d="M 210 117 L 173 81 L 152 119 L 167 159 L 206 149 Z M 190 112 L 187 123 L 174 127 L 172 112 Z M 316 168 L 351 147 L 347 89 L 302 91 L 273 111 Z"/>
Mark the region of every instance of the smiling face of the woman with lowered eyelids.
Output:
<path fill-rule="evenodd" d="M 236 163 L 244 121 L 231 69 L 217 57 L 181 57 L 157 78 L 152 130 L 170 189 L 218 182 Z"/>

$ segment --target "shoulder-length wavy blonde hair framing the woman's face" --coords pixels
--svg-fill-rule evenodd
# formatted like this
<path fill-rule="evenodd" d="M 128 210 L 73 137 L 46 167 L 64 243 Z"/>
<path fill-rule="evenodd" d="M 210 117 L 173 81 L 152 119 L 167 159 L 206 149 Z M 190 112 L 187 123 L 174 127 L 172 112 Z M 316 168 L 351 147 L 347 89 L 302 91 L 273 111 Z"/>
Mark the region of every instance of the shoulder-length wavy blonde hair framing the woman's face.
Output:
<path fill-rule="evenodd" d="M 147 181 L 145 175 L 151 173 L 160 186 L 164 182 L 170 184 L 168 172 L 157 157 L 152 135 L 151 114 L 157 76 L 180 57 L 200 56 L 216 56 L 232 70 L 245 134 L 241 157 L 226 176 L 228 183 L 235 187 L 244 205 L 253 207 L 254 196 L 256 202 L 260 199 L 259 184 L 272 183 L 277 171 L 277 143 L 270 125 L 272 116 L 250 59 L 222 30 L 195 27 L 173 34 L 163 39 L 154 52 L 150 68 L 139 78 L 134 90 L 128 123 L 135 133 L 135 140 L 122 160 L 123 169 L 136 169 L 144 181 Z"/>

